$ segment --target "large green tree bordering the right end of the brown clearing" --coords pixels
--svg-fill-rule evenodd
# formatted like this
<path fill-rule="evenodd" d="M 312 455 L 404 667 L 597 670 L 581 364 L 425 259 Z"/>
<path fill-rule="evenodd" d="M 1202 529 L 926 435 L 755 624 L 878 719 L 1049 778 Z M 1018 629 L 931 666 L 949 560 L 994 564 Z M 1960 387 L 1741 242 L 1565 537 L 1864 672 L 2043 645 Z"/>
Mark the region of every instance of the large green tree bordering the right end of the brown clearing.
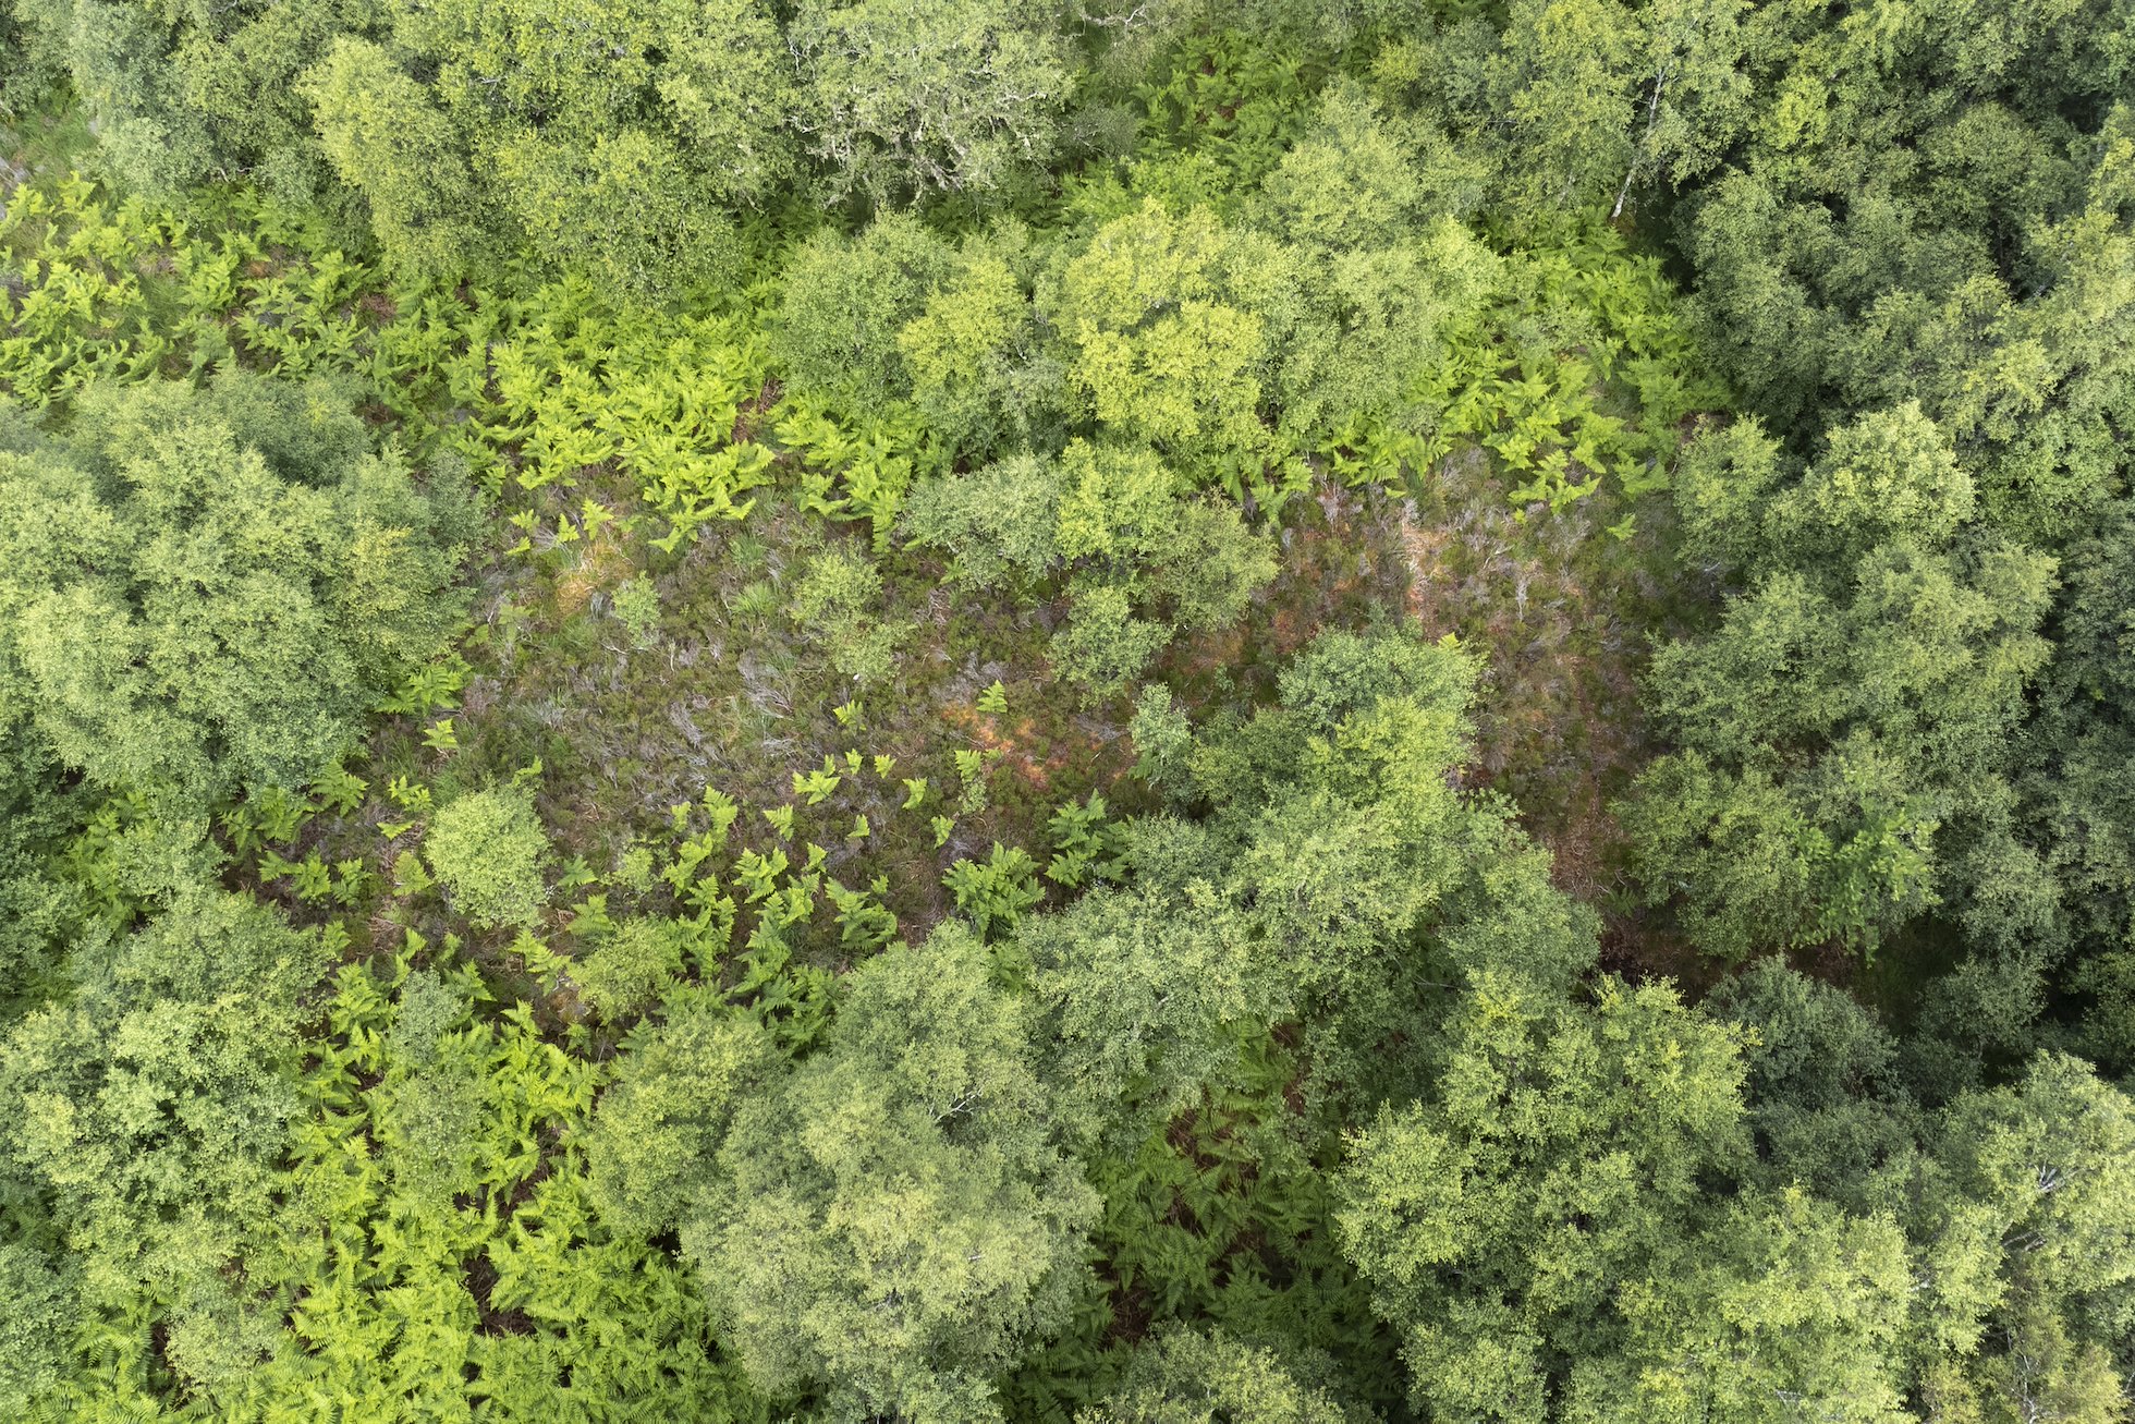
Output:
<path fill-rule="evenodd" d="M 1706 433 L 1676 495 L 1746 589 L 1652 662 L 1680 749 L 1625 807 L 1648 899 L 1680 895 L 1727 959 L 1872 952 L 1945 901 L 1986 942 L 2050 924 L 2007 775 L 2054 559 L 1968 529 L 1971 480 L 1917 406 L 1834 431 L 1796 478 L 1753 427 Z"/>

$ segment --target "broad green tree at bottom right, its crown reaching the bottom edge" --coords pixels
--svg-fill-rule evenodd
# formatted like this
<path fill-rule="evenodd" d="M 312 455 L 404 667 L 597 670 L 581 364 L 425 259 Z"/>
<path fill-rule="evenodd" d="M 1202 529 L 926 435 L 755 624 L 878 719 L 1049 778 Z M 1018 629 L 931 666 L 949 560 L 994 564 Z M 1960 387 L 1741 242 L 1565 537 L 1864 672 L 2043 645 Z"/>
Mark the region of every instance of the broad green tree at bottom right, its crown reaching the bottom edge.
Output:
<path fill-rule="evenodd" d="M 1702 1178 L 1746 1157 L 1736 1029 L 1665 986 L 1591 1003 L 1473 980 L 1437 1099 L 1358 1132 L 1343 1245 L 1433 1420 L 1546 1420 L 1667 1279 Z M 1650 1277 L 1648 1277 L 1650 1272 Z"/>

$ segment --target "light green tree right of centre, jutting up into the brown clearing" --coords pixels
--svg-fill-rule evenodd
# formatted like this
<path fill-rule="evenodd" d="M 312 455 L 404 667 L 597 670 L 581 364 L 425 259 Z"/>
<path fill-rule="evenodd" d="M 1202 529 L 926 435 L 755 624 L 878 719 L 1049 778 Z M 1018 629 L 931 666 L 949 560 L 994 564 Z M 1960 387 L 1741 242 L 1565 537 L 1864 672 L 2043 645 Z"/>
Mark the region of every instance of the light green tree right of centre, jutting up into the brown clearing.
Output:
<path fill-rule="evenodd" d="M 1185 873 L 1240 912 L 1294 1003 L 1334 1110 L 1405 1099 L 1443 1072 L 1471 974 L 1561 997 L 1593 965 L 1591 912 L 1505 809 L 1456 790 L 1475 658 L 1398 632 L 1330 630 L 1277 707 L 1211 728 L 1189 758 L 1230 854 Z"/>

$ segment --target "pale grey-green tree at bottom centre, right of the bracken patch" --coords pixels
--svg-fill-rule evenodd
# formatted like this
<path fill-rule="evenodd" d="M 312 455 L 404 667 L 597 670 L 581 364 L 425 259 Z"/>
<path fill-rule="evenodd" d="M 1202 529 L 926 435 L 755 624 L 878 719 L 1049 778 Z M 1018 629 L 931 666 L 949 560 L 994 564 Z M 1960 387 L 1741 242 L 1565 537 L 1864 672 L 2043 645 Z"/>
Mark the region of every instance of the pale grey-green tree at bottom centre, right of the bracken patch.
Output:
<path fill-rule="evenodd" d="M 999 1418 L 991 1379 L 1065 1324 L 1097 1206 L 1029 1031 L 944 924 L 860 965 L 826 1048 L 741 1099 L 683 1247 L 760 1388 Z"/>

